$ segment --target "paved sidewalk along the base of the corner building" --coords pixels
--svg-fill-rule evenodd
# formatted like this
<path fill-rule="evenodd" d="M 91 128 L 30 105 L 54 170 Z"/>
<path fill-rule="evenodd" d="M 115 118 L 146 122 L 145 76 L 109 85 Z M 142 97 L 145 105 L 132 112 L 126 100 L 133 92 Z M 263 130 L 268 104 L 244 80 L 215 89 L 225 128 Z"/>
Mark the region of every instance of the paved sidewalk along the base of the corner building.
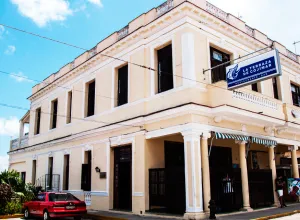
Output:
<path fill-rule="evenodd" d="M 267 217 L 282 213 L 293 212 L 296 210 L 300 210 L 300 203 L 291 204 L 286 208 L 266 208 L 263 210 L 255 210 L 253 212 L 238 212 L 232 214 L 222 214 L 217 215 L 217 219 L 220 220 L 231 220 L 231 219 L 238 219 L 238 220 L 246 220 L 246 219 L 257 219 L 261 217 Z M 101 219 L 101 220 L 126 220 L 126 219 L 149 219 L 149 220 L 177 220 L 183 219 L 182 216 L 164 216 L 164 215 L 155 215 L 146 213 L 143 216 L 134 215 L 131 213 L 124 213 L 124 212 L 108 212 L 108 211 L 89 211 L 86 219 Z"/>

